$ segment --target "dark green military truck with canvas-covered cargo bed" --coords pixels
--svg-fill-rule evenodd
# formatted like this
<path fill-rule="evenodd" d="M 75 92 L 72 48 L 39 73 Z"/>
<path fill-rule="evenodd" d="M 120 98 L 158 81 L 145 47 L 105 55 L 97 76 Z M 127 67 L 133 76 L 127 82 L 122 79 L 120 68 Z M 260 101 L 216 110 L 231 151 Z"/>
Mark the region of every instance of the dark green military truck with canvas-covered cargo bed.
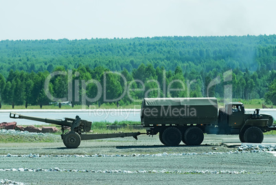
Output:
<path fill-rule="evenodd" d="M 230 102 L 218 109 L 216 98 L 144 98 L 141 124 L 148 135 L 159 133 L 160 141 L 176 146 L 182 141 L 199 145 L 204 133 L 238 134 L 241 142 L 261 143 L 264 132 L 275 130 L 273 117 L 246 113 L 242 102 Z"/>

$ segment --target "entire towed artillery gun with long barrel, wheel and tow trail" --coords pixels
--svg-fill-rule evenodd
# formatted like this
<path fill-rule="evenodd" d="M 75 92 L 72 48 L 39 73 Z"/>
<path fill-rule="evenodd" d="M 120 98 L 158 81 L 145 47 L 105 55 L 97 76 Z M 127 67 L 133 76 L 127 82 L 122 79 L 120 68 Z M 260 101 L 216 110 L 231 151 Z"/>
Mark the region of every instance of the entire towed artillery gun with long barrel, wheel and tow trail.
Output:
<path fill-rule="evenodd" d="M 38 122 L 46 122 L 50 124 L 58 124 L 61 126 L 61 139 L 65 146 L 69 149 L 76 149 L 80 145 L 80 140 L 97 140 L 104 138 L 124 138 L 133 137 L 137 140 L 137 135 L 140 132 L 131 133 L 93 133 L 87 134 L 91 131 L 92 122 L 81 120 L 79 116 L 73 118 L 65 118 L 64 120 L 38 118 L 32 116 L 24 116 L 19 113 L 10 113 L 10 118 L 34 120 Z M 70 127 L 70 131 L 65 132 L 66 128 Z"/>

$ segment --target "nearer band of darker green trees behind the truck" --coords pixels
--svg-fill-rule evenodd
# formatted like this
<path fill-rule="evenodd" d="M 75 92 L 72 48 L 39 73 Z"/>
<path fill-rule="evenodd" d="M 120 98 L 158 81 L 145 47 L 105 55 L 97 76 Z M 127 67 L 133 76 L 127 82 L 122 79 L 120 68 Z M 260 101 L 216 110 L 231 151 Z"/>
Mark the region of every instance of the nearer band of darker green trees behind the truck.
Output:
<path fill-rule="evenodd" d="M 242 72 L 240 69 L 226 72 L 212 69 L 210 72 L 184 72 L 181 67 L 166 71 L 143 63 L 128 72 L 112 72 L 99 66 L 81 65 L 67 70 L 56 67 L 53 72 L 24 72 L 10 70 L 8 78 L 0 74 L 1 102 L 6 105 L 49 105 L 49 102 L 70 100 L 73 105 L 139 104 L 141 98 L 163 97 L 225 97 L 226 85 L 231 85 L 232 98 L 266 98 L 275 102 L 276 71 L 262 70 Z M 53 75 L 54 74 L 54 75 Z M 218 78 L 220 79 L 218 81 Z M 214 85 L 212 85 L 214 84 Z M 50 96 L 49 96 L 50 95 Z M 54 99 L 53 99 L 54 98 Z"/>

